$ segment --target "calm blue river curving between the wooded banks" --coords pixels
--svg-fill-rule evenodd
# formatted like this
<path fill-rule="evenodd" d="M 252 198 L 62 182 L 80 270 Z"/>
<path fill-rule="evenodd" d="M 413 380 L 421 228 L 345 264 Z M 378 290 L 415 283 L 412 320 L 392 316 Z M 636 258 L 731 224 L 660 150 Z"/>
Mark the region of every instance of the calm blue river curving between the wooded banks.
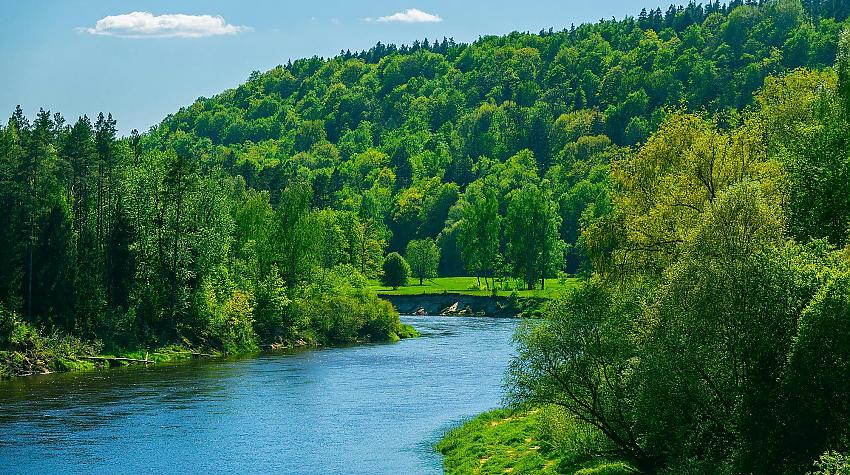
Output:
<path fill-rule="evenodd" d="M 440 473 L 499 405 L 515 320 L 402 317 L 421 338 L 0 382 L 0 473 Z"/>

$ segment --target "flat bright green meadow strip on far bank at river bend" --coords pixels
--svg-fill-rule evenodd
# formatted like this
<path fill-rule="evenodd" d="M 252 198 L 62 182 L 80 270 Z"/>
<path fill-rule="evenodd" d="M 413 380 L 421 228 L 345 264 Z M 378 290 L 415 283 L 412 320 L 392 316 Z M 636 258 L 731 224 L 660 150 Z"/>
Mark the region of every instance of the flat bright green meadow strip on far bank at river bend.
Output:
<path fill-rule="evenodd" d="M 517 290 L 519 297 L 538 297 L 552 298 L 558 296 L 564 290 L 569 289 L 579 282 L 577 277 L 567 278 L 561 282 L 558 279 L 546 279 L 545 290 Z M 379 294 L 387 295 L 427 295 L 427 294 L 462 294 L 462 295 L 483 295 L 489 296 L 493 294 L 492 290 L 487 290 L 484 286 L 484 280 L 481 280 L 481 287 L 478 287 L 478 279 L 475 277 L 437 277 L 435 279 L 425 280 L 423 285 L 419 285 L 419 279 L 410 279 L 408 285 L 399 287 L 393 290 L 391 287 L 381 284 L 377 280 L 369 282 L 372 289 Z M 502 285 L 498 281 L 497 286 Z M 499 290 L 498 295 L 508 296 L 513 293 L 513 290 Z"/>

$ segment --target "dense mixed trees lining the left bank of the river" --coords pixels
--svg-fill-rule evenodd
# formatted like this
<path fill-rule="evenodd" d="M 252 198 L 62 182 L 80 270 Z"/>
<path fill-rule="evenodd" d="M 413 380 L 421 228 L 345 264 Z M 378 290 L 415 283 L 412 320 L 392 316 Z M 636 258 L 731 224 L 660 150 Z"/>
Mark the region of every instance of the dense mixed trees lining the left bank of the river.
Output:
<path fill-rule="evenodd" d="M 374 226 L 313 209 L 297 180 L 273 207 L 181 136 L 145 151 L 111 116 L 30 122 L 20 108 L 0 127 L 3 349 L 36 345 L 21 325 L 115 351 L 228 353 L 408 331 L 367 290 L 385 246 Z"/>

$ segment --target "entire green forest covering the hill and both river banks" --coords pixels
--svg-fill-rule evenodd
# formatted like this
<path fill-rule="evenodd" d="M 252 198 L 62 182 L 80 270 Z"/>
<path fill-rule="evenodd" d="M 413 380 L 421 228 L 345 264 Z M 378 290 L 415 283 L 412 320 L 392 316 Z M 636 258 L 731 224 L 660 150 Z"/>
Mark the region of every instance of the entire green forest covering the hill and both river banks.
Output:
<path fill-rule="evenodd" d="M 379 43 L 123 138 L 110 115 L 19 108 L 0 127 L 0 358 L 403 337 L 368 286 L 409 271 L 399 253 L 487 288 L 581 274 L 518 334 L 510 387 L 598 431 L 588 456 L 672 473 L 841 459 L 848 13 L 690 3 Z"/>

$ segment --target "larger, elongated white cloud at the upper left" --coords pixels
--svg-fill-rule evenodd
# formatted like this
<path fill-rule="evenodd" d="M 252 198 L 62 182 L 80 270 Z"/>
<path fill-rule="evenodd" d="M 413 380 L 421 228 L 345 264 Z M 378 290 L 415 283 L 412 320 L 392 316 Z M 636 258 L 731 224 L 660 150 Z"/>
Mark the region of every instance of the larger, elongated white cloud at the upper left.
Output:
<path fill-rule="evenodd" d="M 92 28 L 79 28 L 92 35 L 124 38 L 203 38 L 234 35 L 246 28 L 230 25 L 224 18 L 212 15 L 154 15 L 133 12 L 103 17 Z"/>

